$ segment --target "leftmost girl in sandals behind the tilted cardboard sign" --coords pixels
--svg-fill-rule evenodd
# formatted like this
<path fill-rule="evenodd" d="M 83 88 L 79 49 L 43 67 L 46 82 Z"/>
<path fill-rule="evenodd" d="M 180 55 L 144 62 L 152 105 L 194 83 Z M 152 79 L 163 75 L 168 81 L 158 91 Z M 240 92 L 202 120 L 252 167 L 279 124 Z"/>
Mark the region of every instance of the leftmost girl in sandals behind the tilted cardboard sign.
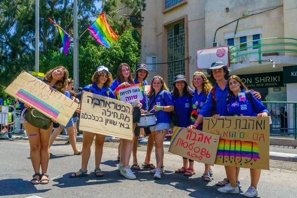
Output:
<path fill-rule="evenodd" d="M 55 67 L 45 74 L 44 79 L 45 83 L 64 94 L 67 88 L 68 70 L 63 66 Z M 19 102 L 19 105 L 22 109 L 22 117 L 24 113 L 27 113 L 25 108 L 32 108 L 28 104 L 24 104 L 22 102 Z M 34 120 L 30 120 L 29 122 L 27 120 L 27 122 L 23 123 L 23 126 L 28 134 L 30 159 L 35 172 L 31 183 L 35 185 L 48 184 L 49 175 L 47 174 L 47 171 L 49 165 L 49 138 L 52 131 L 52 124 L 50 123 L 50 125 L 48 125 L 49 127 L 44 126 L 43 128 L 38 128 L 32 125 Z M 40 174 L 40 166 L 42 174 Z"/>

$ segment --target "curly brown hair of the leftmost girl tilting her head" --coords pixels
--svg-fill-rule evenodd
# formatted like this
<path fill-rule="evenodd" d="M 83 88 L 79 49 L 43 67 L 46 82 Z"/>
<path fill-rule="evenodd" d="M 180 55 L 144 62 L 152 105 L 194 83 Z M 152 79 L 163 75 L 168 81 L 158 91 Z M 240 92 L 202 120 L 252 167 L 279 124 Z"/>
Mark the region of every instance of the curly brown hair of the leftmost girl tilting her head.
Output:
<path fill-rule="evenodd" d="M 45 74 L 45 80 L 47 81 L 47 83 L 50 83 L 52 81 L 52 72 L 56 69 L 62 69 L 64 70 L 64 76 L 62 78 L 62 80 L 58 80 L 56 83 L 55 83 L 55 88 L 56 90 L 58 90 L 59 92 L 61 92 L 62 94 L 65 93 L 66 91 L 66 88 L 68 86 L 68 70 L 63 67 L 63 66 L 58 66 L 58 67 L 55 67 L 51 70 L 49 70 L 46 74 Z"/>

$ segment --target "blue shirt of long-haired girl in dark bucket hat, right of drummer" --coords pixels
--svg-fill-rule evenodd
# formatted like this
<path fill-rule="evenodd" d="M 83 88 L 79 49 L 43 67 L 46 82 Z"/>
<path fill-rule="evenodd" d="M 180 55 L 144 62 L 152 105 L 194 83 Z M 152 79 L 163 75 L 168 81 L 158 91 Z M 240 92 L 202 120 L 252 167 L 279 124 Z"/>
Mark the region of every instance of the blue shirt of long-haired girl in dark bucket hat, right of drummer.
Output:
<path fill-rule="evenodd" d="M 194 93 L 193 90 L 191 90 L 192 93 Z M 179 127 L 188 127 L 192 124 L 191 122 L 191 102 L 192 102 L 192 96 L 188 94 L 185 96 L 184 94 L 182 97 L 174 97 L 171 93 L 172 100 L 174 103 L 174 110 L 177 115 L 177 126 Z"/>

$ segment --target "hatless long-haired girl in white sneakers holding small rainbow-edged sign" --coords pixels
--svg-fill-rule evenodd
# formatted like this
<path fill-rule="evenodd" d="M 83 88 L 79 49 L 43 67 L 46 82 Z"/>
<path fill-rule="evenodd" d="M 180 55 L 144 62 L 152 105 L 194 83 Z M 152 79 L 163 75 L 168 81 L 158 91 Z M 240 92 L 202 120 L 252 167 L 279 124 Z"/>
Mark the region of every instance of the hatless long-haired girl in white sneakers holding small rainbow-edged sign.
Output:
<path fill-rule="evenodd" d="M 112 82 L 110 89 L 113 91 L 113 94 L 116 96 L 117 87 L 127 87 L 131 84 L 134 84 L 134 81 L 131 75 L 131 69 L 127 63 L 121 63 L 117 70 L 117 76 L 115 80 Z M 136 123 L 133 123 L 133 131 L 132 131 L 133 137 L 134 137 L 135 127 L 136 127 Z M 130 140 L 120 139 L 119 156 L 118 156 L 120 158 L 120 163 L 118 165 L 118 170 L 120 170 L 120 173 L 127 179 L 136 179 L 136 176 L 133 174 L 129 166 L 132 149 L 133 149 L 133 140 L 130 141 Z"/>

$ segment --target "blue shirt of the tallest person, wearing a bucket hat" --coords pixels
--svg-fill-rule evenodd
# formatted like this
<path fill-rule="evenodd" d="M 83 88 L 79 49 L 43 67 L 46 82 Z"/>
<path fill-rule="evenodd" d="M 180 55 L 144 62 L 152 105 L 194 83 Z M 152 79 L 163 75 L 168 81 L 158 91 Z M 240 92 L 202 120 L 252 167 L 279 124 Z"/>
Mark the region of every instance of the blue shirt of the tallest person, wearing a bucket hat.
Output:
<path fill-rule="evenodd" d="M 212 112 L 216 110 L 216 114 L 219 114 L 221 116 L 227 116 L 228 110 L 227 110 L 227 98 L 228 98 L 228 89 L 227 84 L 225 86 L 225 89 L 222 90 L 217 83 L 215 83 L 215 98 L 216 98 L 216 108 L 214 106 L 214 102 L 211 96 L 211 91 L 207 95 L 206 102 L 203 106 L 203 108 L 200 110 L 199 114 L 201 114 L 203 117 L 210 117 Z"/>

